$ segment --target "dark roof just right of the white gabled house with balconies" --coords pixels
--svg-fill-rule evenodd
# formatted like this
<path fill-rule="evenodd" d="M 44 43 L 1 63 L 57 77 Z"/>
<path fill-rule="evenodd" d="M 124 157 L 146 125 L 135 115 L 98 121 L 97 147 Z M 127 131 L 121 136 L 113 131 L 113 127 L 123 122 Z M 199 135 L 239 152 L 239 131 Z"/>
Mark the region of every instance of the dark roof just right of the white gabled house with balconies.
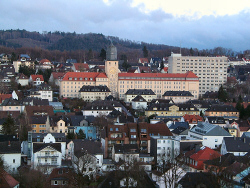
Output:
<path fill-rule="evenodd" d="M 85 151 L 92 155 L 103 153 L 100 141 L 87 139 L 75 139 L 72 141 L 74 142 L 74 154 L 78 158 L 81 157 Z"/>

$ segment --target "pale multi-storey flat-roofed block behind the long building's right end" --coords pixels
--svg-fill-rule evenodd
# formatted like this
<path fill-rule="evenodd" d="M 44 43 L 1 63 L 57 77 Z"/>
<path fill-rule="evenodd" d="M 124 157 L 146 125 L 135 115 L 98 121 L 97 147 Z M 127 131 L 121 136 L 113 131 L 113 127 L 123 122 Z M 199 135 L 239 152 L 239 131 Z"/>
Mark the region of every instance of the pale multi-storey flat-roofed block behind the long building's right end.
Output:
<path fill-rule="evenodd" d="M 199 94 L 207 91 L 218 91 L 221 84 L 227 81 L 228 58 L 182 56 L 172 53 L 168 58 L 169 73 L 186 73 L 192 71 L 199 77 Z"/>

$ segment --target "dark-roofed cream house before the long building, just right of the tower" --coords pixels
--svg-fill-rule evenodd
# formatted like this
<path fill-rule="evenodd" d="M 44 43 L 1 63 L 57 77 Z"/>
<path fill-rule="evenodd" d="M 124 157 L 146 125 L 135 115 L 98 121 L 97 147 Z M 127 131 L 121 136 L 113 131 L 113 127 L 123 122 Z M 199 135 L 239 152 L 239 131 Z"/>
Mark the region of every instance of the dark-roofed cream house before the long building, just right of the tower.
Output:
<path fill-rule="evenodd" d="M 156 94 L 151 89 L 129 89 L 125 93 L 125 102 L 131 103 L 131 101 L 137 96 L 142 96 L 147 102 L 151 102 L 156 99 Z"/>

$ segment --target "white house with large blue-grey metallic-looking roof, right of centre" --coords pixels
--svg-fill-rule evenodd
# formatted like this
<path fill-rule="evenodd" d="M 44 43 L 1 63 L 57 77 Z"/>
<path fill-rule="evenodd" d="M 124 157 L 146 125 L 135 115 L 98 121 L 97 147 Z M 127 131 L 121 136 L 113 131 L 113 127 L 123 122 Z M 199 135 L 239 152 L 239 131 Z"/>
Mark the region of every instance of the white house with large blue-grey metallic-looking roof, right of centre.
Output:
<path fill-rule="evenodd" d="M 207 122 L 198 122 L 188 132 L 188 136 L 194 139 L 203 140 L 202 145 L 212 149 L 218 148 L 224 137 L 232 137 L 225 129 L 219 125 Z"/>

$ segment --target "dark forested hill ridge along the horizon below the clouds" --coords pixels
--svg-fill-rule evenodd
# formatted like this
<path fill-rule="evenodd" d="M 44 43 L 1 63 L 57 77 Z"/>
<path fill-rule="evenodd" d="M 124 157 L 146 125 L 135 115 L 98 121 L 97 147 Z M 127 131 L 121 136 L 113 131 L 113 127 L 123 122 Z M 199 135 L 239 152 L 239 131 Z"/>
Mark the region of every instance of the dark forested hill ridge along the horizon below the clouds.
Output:
<path fill-rule="evenodd" d="M 75 51 L 89 50 L 100 51 L 106 49 L 110 41 L 117 45 L 119 50 L 142 49 L 144 45 L 149 50 L 173 49 L 167 45 L 147 44 L 118 37 L 104 36 L 103 34 L 76 34 L 65 32 L 29 32 L 26 30 L 1 30 L 0 45 L 5 47 L 40 47 L 48 50 Z"/>

